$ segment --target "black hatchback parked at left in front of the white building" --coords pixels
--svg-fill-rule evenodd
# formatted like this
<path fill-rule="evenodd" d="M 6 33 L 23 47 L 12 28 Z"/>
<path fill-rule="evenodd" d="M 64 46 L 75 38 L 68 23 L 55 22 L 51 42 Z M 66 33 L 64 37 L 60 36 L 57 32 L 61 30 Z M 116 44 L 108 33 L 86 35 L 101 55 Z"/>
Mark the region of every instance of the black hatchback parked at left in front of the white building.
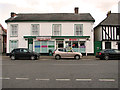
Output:
<path fill-rule="evenodd" d="M 13 49 L 10 53 L 11 60 L 15 60 L 15 59 L 35 60 L 35 59 L 38 59 L 39 56 L 40 54 L 30 51 L 27 48 L 16 48 L 16 49 Z"/>

